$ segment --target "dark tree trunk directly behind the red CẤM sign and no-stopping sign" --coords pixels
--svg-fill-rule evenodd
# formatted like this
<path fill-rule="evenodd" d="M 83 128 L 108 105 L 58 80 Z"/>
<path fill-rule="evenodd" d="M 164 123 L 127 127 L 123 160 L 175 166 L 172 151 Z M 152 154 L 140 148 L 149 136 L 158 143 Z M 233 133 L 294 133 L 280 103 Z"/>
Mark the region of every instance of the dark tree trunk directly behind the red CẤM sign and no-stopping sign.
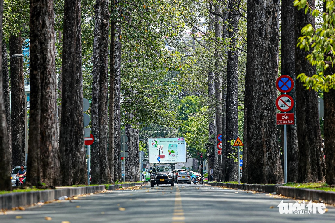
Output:
<path fill-rule="evenodd" d="M 294 48 L 294 7 L 292 1 L 282 0 L 281 3 L 281 75 L 292 77 L 295 82 Z M 296 101 L 295 86 L 287 93 Z M 289 111 L 294 113 L 294 125 L 286 125 L 287 145 L 287 181 L 298 178 L 298 141 L 296 133 L 296 105 Z"/>

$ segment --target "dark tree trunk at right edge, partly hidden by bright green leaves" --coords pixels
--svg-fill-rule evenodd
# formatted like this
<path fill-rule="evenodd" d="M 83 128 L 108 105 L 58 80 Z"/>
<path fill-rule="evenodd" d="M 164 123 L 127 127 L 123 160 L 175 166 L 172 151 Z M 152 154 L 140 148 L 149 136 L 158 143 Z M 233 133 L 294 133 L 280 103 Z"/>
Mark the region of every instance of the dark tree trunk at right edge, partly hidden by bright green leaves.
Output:
<path fill-rule="evenodd" d="M 327 12 L 326 1 L 323 3 L 323 11 Z M 324 57 L 326 61 L 327 57 Z M 328 61 L 329 62 L 329 61 Z M 335 69 L 329 66 L 325 71 L 324 75 L 332 75 L 335 73 Z M 335 185 L 335 89 L 329 89 L 328 92 L 324 92 L 324 153 L 326 156 L 326 181 L 329 185 Z"/>

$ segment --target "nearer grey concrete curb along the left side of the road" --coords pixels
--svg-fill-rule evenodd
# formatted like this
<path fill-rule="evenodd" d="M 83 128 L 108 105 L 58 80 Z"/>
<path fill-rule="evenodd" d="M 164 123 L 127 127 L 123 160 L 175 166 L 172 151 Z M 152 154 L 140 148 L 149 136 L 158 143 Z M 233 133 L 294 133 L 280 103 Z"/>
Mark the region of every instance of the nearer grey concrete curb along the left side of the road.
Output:
<path fill-rule="evenodd" d="M 90 187 L 60 187 L 44 191 L 17 192 L 0 195 L 0 209 L 11 209 L 31 205 L 43 201 L 53 201 L 62 196 L 72 197 L 81 194 L 91 194 L 105 190 L 105 185 Z"/>

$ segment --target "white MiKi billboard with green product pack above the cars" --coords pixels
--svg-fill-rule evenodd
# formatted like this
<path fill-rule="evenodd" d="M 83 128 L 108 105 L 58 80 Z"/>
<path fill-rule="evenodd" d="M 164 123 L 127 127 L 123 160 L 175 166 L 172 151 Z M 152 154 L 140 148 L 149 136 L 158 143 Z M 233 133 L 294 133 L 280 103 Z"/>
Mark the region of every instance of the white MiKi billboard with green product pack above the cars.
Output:
<path fill-rule="evenodd" d="M 149 163 L 186 163 L 186 142 L 180 138 L 149 138 Z"/>

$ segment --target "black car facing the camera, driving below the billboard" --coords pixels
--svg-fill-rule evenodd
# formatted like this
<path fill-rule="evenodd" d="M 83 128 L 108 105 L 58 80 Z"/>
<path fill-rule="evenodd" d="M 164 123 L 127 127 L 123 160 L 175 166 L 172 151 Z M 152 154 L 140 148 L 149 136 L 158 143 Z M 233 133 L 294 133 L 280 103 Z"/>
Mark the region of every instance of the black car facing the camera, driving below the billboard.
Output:
<path fill-rule="evenodd" d="M 154 184 L 171 184 L 175 186 L 172 168 L 170 164 L 156 164 L 150 170 L 150 185 L 153 188 Z"/>

